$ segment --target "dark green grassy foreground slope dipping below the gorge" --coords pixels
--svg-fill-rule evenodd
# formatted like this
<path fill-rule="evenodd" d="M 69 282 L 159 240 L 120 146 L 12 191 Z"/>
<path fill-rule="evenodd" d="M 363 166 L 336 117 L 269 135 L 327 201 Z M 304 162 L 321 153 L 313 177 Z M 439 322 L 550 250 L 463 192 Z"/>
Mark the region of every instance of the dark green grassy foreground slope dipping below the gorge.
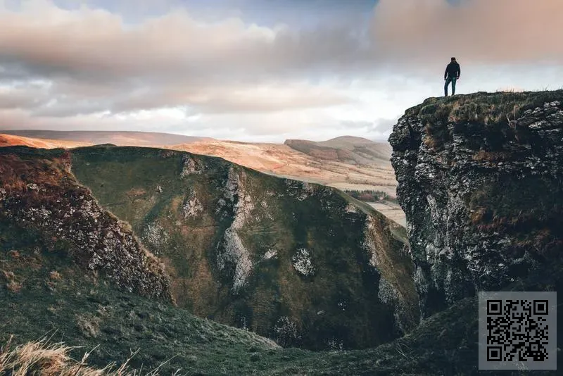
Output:
<path fill-rule="evenodd" d="M 46 249 L 37 234 L 6 220 L 0 221 L 0 239 L 2 344 L 12 335 L 15 344 L 48 336 L 83 346 L 72 351 L 74 358 L 93 350 L 88 363 L 98 367 L 121 365 L 138 351 L 129 361 L 132 368 L 160 367 L 160 375 L 178 370 L 178 375 L 495 375 L 477 369 L 477 306 L 472 298 L 375 349 L 281 349 L 252 332 L 197 318 L 84 275 L 64 246 Z M 507 289 L 557 290 L 563 287 L 561 270 L 552 265 Z M 560 344 L 563 333 L 558 334 Z M 559 356 L 559 368 L 561 360 Z"/>

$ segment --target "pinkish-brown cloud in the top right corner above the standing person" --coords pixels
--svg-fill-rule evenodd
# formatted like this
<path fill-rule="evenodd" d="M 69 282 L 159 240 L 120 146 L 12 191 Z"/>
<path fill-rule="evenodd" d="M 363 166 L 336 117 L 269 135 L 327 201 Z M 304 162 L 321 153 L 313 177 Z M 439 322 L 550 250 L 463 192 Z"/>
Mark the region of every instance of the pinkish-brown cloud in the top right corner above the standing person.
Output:
<path fill-rule="evenodd" d="M 563 1 L 380 0 L 372 37 L 388 61 L 563 62 Z"/>

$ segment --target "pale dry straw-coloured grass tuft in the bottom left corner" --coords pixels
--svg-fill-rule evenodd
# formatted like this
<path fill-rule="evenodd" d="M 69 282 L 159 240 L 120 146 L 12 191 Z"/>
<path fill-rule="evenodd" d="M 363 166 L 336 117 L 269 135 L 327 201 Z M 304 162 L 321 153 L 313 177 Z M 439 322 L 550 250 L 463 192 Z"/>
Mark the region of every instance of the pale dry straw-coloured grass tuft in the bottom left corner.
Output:
<path fill-rule="evenodd" d="M 27 342 L 14 348 L 11 347 L 12 338 L 0 348 L 0 375 L 27 376 L 139 376 L 141 370 L 130 370 L 127 359 L 119 368 L 115 363 L 105 368 L 96 369 L 87 365 L 86 361 L 91 352 L 84 353 L 80 361 L 70 357 L 72 349 L 62 343 L 49 344 L 48 339 Z M 133 353 L 134 356 L 136 353 Z M 147 376 L 158 376 L 158 369 L 146 372 Z"/>

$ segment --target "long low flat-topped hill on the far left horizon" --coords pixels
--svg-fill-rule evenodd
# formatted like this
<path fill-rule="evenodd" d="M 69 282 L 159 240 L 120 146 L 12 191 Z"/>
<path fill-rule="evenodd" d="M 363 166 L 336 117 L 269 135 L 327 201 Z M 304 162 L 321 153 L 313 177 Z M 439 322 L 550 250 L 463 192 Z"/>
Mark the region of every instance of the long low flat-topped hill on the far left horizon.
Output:
<path fill-rule="evenodd" d="M 118 146 L 167 146 L 189 144 L 190 142 L 208 139 L 158 132 L 2 130 L 0 133 L 39 139 L 57 139 L 87 144 L 115 144 Z"/>

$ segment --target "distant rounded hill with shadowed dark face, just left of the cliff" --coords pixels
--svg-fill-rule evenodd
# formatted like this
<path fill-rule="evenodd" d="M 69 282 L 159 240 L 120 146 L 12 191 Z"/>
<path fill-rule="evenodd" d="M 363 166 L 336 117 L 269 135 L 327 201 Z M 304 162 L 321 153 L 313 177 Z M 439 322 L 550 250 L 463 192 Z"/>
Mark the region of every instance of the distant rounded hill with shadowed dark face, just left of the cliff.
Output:
<path fill-rule="evenodd" d="M 391 158 L 391 146 L 388 143 L 373 142 L 362 137 L 342 136 L 323 142 L 288 139 L 284 144 L 315 158 L 353 165 L 388 163 Z"/>

